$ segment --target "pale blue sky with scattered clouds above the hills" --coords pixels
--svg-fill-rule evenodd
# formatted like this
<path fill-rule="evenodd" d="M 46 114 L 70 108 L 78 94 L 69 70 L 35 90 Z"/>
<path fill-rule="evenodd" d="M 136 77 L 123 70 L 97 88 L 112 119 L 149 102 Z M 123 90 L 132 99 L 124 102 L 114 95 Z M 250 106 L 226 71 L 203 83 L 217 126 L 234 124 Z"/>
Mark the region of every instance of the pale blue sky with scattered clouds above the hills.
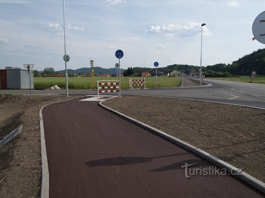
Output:
<path fill-rule="evenodd" d="M 65 0 L 68 69 L 232 63 L 264 44 L 252 24 L 264 0 Z M 63 0 L 0 0 L 0 69 L 65 70 Z M 205 26 L 201 26 L 206 23 Z"/>

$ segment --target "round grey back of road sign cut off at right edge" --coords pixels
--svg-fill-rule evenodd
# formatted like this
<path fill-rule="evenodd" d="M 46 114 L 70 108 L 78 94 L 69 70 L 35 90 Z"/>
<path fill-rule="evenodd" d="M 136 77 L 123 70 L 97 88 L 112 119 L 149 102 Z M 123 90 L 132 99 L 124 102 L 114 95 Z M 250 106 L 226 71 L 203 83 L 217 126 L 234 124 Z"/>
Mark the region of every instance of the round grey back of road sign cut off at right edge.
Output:
<path fill-rule="evenodd" d="M 265 44 L 265 11 L 260 13 L 254 20 L 252 32 L 259 42 Z"/>

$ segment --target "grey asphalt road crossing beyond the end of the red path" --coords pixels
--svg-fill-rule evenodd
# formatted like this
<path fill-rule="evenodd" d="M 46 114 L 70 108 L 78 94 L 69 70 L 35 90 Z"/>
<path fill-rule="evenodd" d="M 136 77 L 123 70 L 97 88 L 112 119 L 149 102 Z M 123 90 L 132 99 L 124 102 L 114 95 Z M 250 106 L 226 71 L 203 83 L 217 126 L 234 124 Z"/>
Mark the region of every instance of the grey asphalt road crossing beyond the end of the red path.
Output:
<path fill-rule="evenodd" d="M 242 83 L 220 80 L 205 80 L 212 86 L 203 87 L 177 87 L 157 88 L 146 90 L 121 90 L 121 95 L 152 95 L 166 96 L 187 99 L 197 99 L 213 102 L 247 105 L 258 108 L 265 108 L 265 85 Z M 65 94 L 65 90 L 32 90 L 34 95 Z M 29 90 L 0 90 L 0 94 L 25 94 Z M 96 90 L 69 90 L 69 94 L 91 95 L 97 94 Z M 108 93 L 104 93 L 108 94 Z M 118 93 L 109 93 L 118 95 Z"/>

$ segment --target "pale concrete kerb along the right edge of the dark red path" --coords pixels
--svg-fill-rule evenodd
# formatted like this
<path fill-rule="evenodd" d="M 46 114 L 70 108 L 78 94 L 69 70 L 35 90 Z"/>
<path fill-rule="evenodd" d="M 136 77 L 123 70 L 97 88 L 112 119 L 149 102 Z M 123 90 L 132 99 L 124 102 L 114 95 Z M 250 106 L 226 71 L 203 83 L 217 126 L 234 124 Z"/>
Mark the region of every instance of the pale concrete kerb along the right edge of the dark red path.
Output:
<path fill-rule="evenodd" d="M 153 96 L 153 97 L 155 97 L 155 96 Z M 170 97 L 167 97 L 167 98 L 170 98 Z M 202 158 L 210 161 L 211 163 L 214 163 L 215 165 L 219 166 L 220 168 L 225 168 L 229 173 L 239 177 L 244 182 L 247 182 L 251 186 L 253 186 L 253 187 L 257 188 L 258 190 L 262 191 L 263 193 L 265 193 L 265 183 L 261 182 L 260 180 L 256 179 L 255 177 L 252 177 L 251 175 L 241 171 L 240 169 L 232 166 L 231 164 L 226 163 L 223 160 L 218 159 L 217 157 L 214 157 L 213 155 L 211 155 L 211 154 L 209 154 L 209 153 L 207 153 L 207 152 L 205 152 L 205 151 L 203 151 L 203 150 L 201 150 L 201 149 L 199 149 L 199 148 L 197 148 L 197 147 L 195 147 L 193 145 L 190 145 L 190 144 L 188 144 L 188 143 L 186 143 L 186 142 L 184 142 L 184 141 L 182 141 L 182 140 L 180 140 L 180 139 L 178 139 L 176 137 L 168 135 L 168 134 L 166 134 L 166 133 L 164 133 L 162 131 L 159 131 L 159 130 L 153 128 L 153 127 L 150 127 L 150 126 L 148 126 L 148 125 L 146 125 L 146 124 L 144 124 L 142 122 L 139 122 L 139 121 L 137 121 L 137 120 L 135 120 L 135 119 L 133 119 L 131 117 L 128 117 L 128 116 L 126 116 L 126 115 L 124 115 L 122 113 L 119 113 L 119 112 L 117 112 L 117 111 L 115 111 L 115 110 L 113 110 L 111 108 L 108 108 L 107 106 L 102 104 L 102 102 L 103 101 L 99 102 L 99 105 L 102 108 L 104 108 L 104 109 L 106 109 L 106 110 L 108 110 L 108 111 L 110 111 L 110 112 L 112 112 L 112 113 L 114 113 L 114 114 L 116 114 L 116 115 L 118 115 L 118 116 L 120 116 L 120 117 L 122 117 L 122 118 L 124 118 L 124 119 L 126 119 L 126 120 L 128 120 L 128 121 L 130 121 L 130 122 L 132 122 L 132 123 L 134 123 L 136 125 L 138 125 L 138 126 L 140 126 L 140 127 L 143 127 L 143 128 L 145 128 L 145 129 L 147 129 L 149 131 L 152 131 L 153 133 L 155 133 L 155 134 L 157 134 L 157 135 L 159 135 L 159 136 L 161 136 L 161 137 L 163 137 L 163 138 L 165 138 L 167 140 L 170 140 L 170 141 L 174 142 L 175 144 L 180 145 L 183 148 L 185 148 L 187 150 L 190 150 L 191 152 L 193 152 L 195 154 L 200 155 Z M 240 106 L 243 106 L 243 105 L 240 105 Z"/>

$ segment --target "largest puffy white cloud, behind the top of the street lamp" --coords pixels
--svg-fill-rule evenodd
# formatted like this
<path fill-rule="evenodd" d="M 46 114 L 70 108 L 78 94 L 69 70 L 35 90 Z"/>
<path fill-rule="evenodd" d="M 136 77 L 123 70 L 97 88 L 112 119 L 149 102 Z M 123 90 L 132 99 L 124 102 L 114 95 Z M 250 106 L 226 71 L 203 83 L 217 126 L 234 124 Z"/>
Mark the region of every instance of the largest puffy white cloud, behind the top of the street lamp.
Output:
<path fill-rule="evenodd" d="M 202 35 L 203 36 L 211 36 L 212 33 L 208 30 L 206 26 L 202 28 Z M 147 33 L 166 33 L 169 38 L 174 36 L 172 33 L 169 32 L 176 32 L 179 33 L 180 36 L 194 36 L 194 35 L 200 35 L 201 31 L 201 24 L 200 23 L 187 23 L 186 25 L 180 25 L 180 24 L 169 24 L 169 25 L 162 25 L 162 26 L 153 26 L 151 25 L 147 29 Z"/>

